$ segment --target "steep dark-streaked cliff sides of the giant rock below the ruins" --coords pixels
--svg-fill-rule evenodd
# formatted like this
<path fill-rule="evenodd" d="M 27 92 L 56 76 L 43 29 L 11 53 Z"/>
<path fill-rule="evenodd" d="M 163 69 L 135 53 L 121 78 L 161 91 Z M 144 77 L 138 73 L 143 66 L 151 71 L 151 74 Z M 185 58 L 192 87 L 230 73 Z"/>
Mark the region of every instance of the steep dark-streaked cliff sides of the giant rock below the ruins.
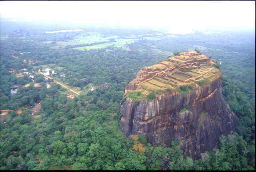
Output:
<path fill-rule="evenodd" d="M 180 140 L 181 149 L 193 158 L 216 147 L 237 120 L 223 99 L 220 76 L 189 94 L 165 93 L 153 101 L 124 98 L 120 105 L 120 127 L 127 137 L 141 133 L 149 143 L 168 147 Z"/>

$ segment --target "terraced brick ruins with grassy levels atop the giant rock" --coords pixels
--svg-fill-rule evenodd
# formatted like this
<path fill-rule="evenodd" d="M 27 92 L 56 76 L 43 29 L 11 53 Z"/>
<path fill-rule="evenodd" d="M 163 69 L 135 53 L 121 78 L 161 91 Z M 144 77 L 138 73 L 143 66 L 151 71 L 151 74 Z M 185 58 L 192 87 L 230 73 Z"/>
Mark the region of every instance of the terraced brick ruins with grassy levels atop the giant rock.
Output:
<path fill-rule="evenodd" d="M 182 52 L 166 61 L 143 68 L 126 91 L 156 91 L 174 88 L 216 76 L 215 62 L 197 51 Z"/>

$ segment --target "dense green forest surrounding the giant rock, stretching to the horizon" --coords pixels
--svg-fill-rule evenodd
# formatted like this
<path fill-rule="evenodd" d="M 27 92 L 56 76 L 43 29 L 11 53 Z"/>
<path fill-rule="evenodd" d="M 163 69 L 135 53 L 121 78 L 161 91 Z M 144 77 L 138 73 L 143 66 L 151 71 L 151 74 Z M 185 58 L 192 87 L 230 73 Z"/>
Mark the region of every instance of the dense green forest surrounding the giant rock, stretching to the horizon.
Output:
<path fill-rule="evenodd" d="M 0 39 L 0 109 L 12 111 L 1 115 L 0 170 L 255 170 L 254 32 L 198 32 L 174 37 L 150 30 L 91 27 L 83 28 L 83 32 L 49 34 L 45 31 L 71 27 L 15 22 L 4 25 Z M 126 45 L 129 50 L 107 47 L 80 51 L 70 45 L 53 48 L 90 32 L 135 41 Z M 144 151 L 134 149 L 134 143 L 118 126 L 125 86 L 144 66 L 190 49 L 222 61 L 222 92 L 239 117 L 236 131 L 222 136 L 218 149 L 201 154 L 198 160 L 184 158 L 177 141 L 153 146 L 143 135 L 138 142 Z M 52 76 L 81 94 L 67 98 L 63 94 L 66 89 L 37 73 L 42 66 L 54 68 L 56 74 Z M 17 78 L 24 68 L 34 78 L 28 74 Z M 34 87 L 34 83 L 40 87 Z M 109 87 L 97 87 L 104 83 Z M 90 84 L 96 89 L 91 91 Z M 12 94 L 15 86 L 18 90 Z M 39 103 L 42 109 L 32 114 Z M 21 114 L 16 112 L 19 109 Z"/>

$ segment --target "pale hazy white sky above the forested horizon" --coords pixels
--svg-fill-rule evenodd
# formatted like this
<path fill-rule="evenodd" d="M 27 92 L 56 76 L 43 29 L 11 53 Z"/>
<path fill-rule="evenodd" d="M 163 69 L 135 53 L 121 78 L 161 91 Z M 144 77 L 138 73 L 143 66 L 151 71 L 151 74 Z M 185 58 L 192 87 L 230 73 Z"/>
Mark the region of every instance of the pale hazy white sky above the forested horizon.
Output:
<path fill-rule="evenodd" d="M 1 18 L 62 20 L 110 26 L 254 29 L 254 2 L 0 2 Z"/>

